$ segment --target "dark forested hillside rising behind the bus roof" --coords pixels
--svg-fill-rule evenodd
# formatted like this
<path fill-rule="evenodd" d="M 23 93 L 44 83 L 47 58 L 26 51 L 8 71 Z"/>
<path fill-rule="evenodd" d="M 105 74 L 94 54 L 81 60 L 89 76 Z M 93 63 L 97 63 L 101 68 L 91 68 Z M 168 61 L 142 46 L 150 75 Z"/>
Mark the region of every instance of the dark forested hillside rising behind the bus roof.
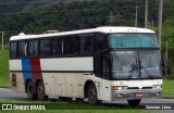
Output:
<path fill-rule="evenodd" d="M 0 0 L 0 32 L 8 32 L 5 37 L 10 37 L 21 32 L 42 34 L 48 29 L 134 26 L 136 5 L 139 7 L 138 26 L 144 27 L 141 0 Z M 174 14 L 173 5 L 173 0 L 164 1 L 164 18 Z M 149 0 L 149 27 L 157 27 L 157 12 L 158 0 Z"/>

